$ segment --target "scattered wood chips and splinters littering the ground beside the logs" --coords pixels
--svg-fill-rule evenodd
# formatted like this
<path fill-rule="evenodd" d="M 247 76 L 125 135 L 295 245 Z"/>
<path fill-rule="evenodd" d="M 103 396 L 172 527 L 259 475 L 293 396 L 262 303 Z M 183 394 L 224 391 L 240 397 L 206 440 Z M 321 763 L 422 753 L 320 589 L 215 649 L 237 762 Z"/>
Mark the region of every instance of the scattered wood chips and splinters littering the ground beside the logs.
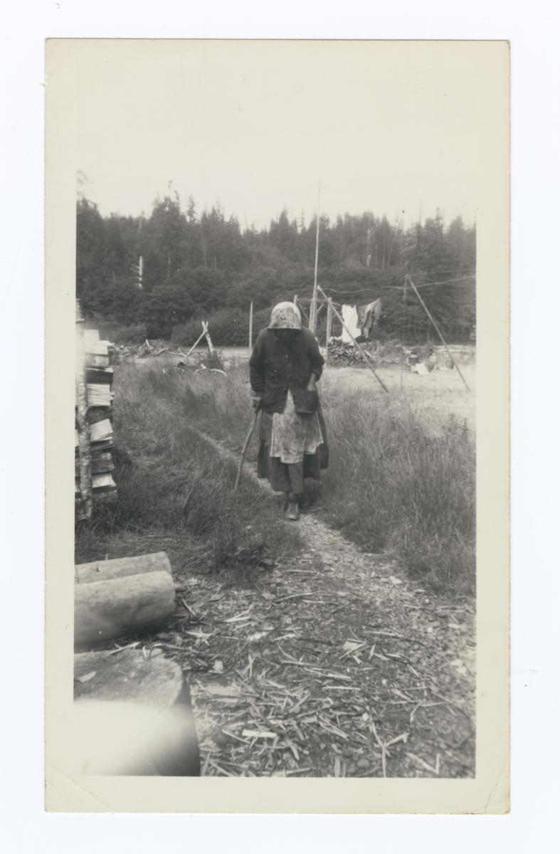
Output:
<path fill-rule="evenodd" d="M 468 717 L 452 681 L 464 646 L 438 659 L 445 674 L 429 669 L 439 654 L 426 636 L 431 605 L 429 615 L 406 612 L 407 623 L 380 622 L 376 611 L 362 623 L 344 611 L 353 601 L 361 611 L 359 592 L 352 600 L 353 591 L 324 589 L 324 573 L 311 579 L 306 571 L 282 581 L 284 573 L 267 574 L 256 592 L 189 578 L 180 630 L 158 646 L 190 674 L 202 775 L 387 777 L 422 768 L 439 776 L 437 743 L 423 733 L 435 706 L 457 721 L 459 711 Z M 446 630 L 449 615 L 444 623 Z M 449 635 L 462 633 L 452 625 Z M 409 734 L 427 760 L 406 753 Z"/>

